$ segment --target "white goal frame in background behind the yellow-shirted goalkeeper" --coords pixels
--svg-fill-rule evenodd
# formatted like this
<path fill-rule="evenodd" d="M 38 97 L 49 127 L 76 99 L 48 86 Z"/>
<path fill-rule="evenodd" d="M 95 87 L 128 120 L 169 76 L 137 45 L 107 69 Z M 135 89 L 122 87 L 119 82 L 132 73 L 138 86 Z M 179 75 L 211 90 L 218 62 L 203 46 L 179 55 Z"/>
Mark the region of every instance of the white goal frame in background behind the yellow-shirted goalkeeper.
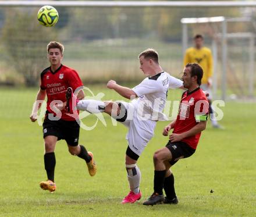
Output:
<path fill-rule="evenodd" d="M 228 65 L 228 55 L 227 55 L 227 42 L 234 38 L 241 38 L 248 40 L 248 50 L 249 50 L 249 66 L 248 66 L 248 97 L 254 96 L 254 33 L 227 33 L 227 23 L 229 22 L 251 22 L 250 18 L 247 17 L 238 17 L 238 18 L 226 18 L 223 16 L 219 17 L 198 17 L 198 18 L 183 18 L 181 19 L 182 23 L 182 51 L 183 55 L 188 47 L 188 25 L 189 24 L 203 24 L 203 23 L 221 23 L 221 33 L 217 32 L 212 37 L 212 55 L 214 61 L 214 76 L 213 76 L 213 95 L 214 98 L 217 97 L 217 87 L 218 87 L 218 70 L 217 62 L 218 62 L 218 42 L 221 39 L 221 98 L 225 100 L 227 98 L 227 68 L 230 67 Z M 233 70 L 230 70 L 234 76 L 236 76 Z M 237 79 L 238 85 L 241 89 L 241 84 Z M 243 89 L 241 89 L 243 91 Z"/>

